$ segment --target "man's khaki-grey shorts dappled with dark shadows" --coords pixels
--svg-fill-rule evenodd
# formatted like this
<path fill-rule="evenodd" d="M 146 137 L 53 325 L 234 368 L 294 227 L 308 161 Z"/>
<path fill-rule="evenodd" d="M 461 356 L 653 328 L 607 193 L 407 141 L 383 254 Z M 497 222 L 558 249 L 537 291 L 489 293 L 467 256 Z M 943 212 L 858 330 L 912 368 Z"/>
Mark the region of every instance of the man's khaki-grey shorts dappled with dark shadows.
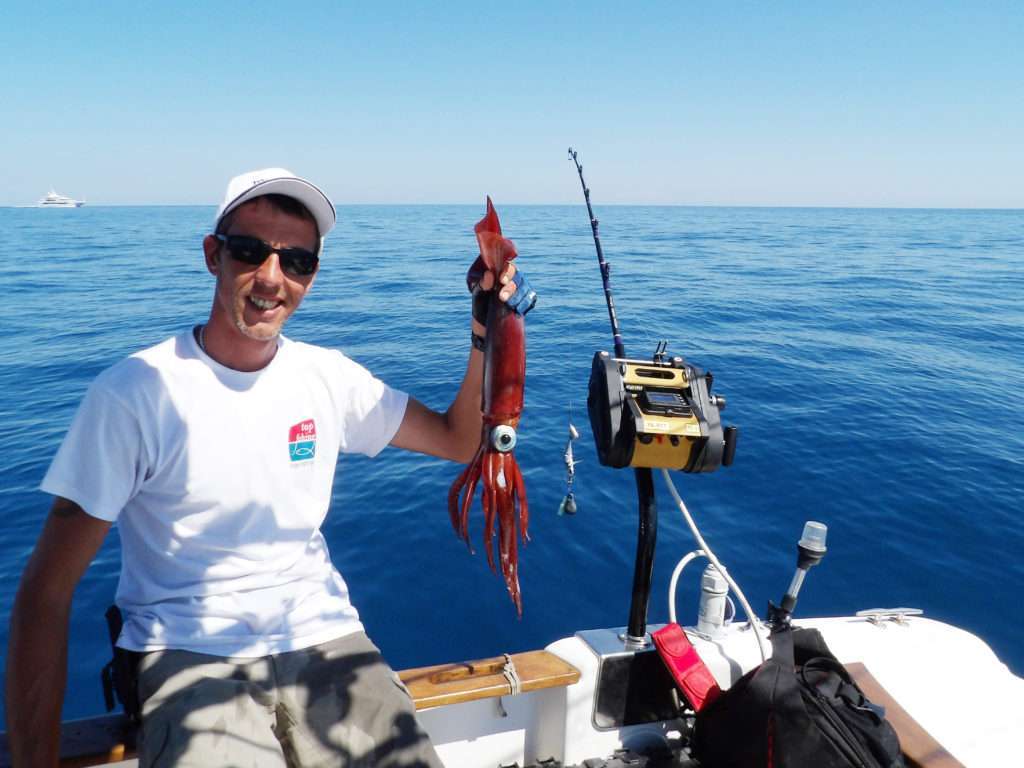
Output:
<path fill-rule="evenodd" d="M 146 653 L 143 766 L 442 768 L 397 675 L 361 632 L 274 656 Z"/>

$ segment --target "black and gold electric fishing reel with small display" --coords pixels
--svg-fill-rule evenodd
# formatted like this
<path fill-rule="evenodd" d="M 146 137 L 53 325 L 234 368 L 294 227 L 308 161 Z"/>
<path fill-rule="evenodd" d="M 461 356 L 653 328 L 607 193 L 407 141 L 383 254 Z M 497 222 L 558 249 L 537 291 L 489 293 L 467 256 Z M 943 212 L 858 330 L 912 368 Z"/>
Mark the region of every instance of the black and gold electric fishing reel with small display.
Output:
<path fill-rule="evenodd" d="M 736 427 L 722 427 L 725 397 L 711 393 L 712 375 L 660 342 L 650 360 L 597 352 L 587 410 L 606 467 L 714 472 L 736 453 Z"/>

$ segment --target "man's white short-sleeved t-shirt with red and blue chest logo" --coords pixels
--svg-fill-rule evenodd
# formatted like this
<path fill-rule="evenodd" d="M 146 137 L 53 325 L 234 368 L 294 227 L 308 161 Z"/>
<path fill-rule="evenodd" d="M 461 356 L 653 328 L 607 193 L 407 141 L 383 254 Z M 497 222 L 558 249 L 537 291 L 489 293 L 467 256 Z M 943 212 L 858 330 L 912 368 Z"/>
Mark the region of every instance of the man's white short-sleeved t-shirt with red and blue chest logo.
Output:
<path fill-rule="evenodd" d="M 407 402 L 284 338 L 253 373 L 190 331 L 104 371 L 41 487 L 118 522 L 118 644 L 259 656 L 360 630 L 319 526 L 339 452 L 379 453 Z"/>

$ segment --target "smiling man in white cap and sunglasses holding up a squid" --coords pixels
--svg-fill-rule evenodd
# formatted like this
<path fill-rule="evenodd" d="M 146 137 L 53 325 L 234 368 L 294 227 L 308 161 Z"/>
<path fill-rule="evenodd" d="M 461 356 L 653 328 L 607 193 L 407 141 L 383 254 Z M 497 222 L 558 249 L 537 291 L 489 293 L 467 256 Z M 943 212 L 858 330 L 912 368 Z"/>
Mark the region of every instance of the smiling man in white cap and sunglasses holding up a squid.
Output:
<path fill-rule="evenodd" d="M 43 480 L 55 501 L 11 617 L 15 765 L 55 764 L 72 594 L 115 520 L 142 765 L 440 765 L 319 525 L 339 452 L 469 460 L 485 329 L 472 321 L 444 414 L 338 351 L 285 339 L 334 223 L 327 197 L 289 171 L 232 179 L 203 241 L 209 319 L 90 387 Z M 513 267 L 501 282 L 501 300 L 532 306 Z M 475 317 L 493 283 L 479 279 Z"/>

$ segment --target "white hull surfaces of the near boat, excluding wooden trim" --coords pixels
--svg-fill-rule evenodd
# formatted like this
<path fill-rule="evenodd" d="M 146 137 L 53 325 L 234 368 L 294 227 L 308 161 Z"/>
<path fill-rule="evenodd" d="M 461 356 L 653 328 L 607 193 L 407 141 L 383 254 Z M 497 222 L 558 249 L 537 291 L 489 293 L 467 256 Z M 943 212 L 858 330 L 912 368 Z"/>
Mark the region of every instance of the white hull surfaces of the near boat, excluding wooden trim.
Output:
<path fill-rule="evenodd" d="M 836 656 L 862 663 L 884 688 L 965 766 L 1010 765 L 1024 733 L 1024 679 L 974 635 L 923 617 L 872 623 L 862 617 L 795 622 L 818 629 Z M 611 645 L 622 630 L 601 633 Z M 761 662 L 752 631 L 734 625 L 717 642 L 691 635 L 725 688 Z M 451 768 L 529 765 L 555 758 L 579 765 L 616 750 L 678 746 L 682 721 L 608 730 L 594 724 L 599 658 L 581 635 L 547 650 L 575 667 L 580 682 L 501 699 L 422 711 L 420 721 Z M 1009 761 L 1009 762 L 1008 762 Z"/>

